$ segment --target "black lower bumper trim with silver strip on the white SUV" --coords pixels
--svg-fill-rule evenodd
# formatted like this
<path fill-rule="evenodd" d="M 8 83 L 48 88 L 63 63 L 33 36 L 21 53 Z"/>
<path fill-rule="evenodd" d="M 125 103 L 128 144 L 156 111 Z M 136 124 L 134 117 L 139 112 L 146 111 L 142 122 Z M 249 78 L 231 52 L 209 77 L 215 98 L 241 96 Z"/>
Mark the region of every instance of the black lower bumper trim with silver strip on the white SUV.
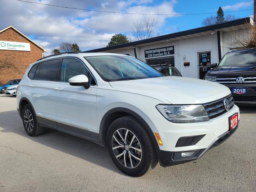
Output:
<path fill-rule="evenodd" d="M 179 153 L 179 152 L 160 150 L 158 152 L 158 161 L 161 166 L 166 167 L 166 166 L 173 166 L 173 165 L 182 164 L 182 163 L 199 159 L 211 148 L 222 144 L 222 142 L 227 140 L 237 129 L 238 129 L 238 126 L 236 126 L 236 128 L 234 128 L 233 130 L 226 131 L 224 134 L 218 136 L 207 148 L 198 150 L 195 157 L 175 159 L 175 153 Z M 186 152 L 193 152 L 193 151 L 186 151 Z"/>

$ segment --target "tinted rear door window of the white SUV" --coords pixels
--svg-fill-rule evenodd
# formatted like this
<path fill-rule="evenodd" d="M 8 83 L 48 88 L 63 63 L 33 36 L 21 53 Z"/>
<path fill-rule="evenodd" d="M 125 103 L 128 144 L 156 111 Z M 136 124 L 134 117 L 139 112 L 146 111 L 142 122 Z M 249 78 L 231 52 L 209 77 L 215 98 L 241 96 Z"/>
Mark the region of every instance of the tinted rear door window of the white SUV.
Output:
<path fill-rule="evenodd" d="M 38 80 L 56 81 L 59 68 L 59 59 L 42 62 Z"/>

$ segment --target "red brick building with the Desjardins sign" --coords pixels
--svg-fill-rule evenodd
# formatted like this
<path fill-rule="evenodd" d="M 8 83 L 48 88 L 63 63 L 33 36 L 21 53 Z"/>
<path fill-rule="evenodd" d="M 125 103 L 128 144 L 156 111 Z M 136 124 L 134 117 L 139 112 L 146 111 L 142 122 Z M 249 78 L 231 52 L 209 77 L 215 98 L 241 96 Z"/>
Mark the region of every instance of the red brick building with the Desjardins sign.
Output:
<path fill-rule="evenodd" d="M 28 66 L 42 58 L 44 52 L 13 26 L 0 30 L 0 84 L 22 78 Z"/>

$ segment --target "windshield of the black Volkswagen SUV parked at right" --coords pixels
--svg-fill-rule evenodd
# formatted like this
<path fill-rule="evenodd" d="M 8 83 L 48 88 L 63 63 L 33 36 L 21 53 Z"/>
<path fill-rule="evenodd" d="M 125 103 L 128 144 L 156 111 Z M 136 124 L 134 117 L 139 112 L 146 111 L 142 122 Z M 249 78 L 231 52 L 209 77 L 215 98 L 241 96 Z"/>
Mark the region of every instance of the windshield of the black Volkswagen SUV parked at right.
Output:
<path fill-rule="evenodd" d="M 256 64 L 256 51 L 228 53 L 222 58 L 218 66 L 241 66 L 248 64 Z"/>

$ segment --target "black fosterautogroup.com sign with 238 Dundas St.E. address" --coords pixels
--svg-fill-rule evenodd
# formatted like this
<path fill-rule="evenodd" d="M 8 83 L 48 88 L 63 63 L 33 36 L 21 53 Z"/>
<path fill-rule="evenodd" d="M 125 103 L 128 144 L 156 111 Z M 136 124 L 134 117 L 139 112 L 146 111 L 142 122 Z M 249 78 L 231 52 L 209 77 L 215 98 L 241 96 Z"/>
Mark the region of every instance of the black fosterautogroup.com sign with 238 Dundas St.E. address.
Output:
<path fill-rule="evenodd" d="M 173 55 L 173 54 L 174 54 L 174 46 L 145 50 L 145 58 Z"/>

